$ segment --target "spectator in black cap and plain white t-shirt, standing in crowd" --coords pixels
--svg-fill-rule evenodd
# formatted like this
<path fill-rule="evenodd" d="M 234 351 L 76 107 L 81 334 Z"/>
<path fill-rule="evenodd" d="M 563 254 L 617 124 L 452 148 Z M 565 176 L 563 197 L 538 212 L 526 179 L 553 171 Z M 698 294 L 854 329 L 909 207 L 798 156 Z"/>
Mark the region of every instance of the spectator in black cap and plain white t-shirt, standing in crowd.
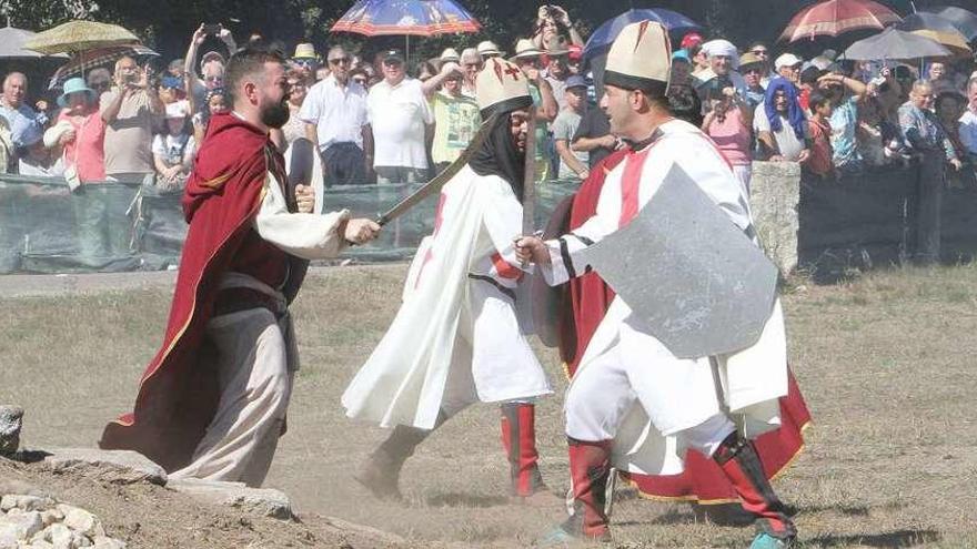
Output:
<path fill-rule="evenodd" d="M 400 50 L 383 52 L 383 80 L 366 96 L 373 130 L 373 169 L 380 184 L 419 183 L 427 179 L 426 135 L 434 114 L 421 82 L 407 77 Z"/>

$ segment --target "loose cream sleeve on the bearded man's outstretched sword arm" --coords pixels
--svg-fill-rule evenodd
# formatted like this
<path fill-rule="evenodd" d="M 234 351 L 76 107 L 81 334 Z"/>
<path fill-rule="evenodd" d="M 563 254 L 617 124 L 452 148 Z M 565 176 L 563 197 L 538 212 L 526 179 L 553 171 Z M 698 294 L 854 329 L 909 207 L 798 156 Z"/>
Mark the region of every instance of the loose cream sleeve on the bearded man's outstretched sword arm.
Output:
<path fill-rule="evenodd" d="M 284 194 L 269 174 L 254 230 L 285 253 L 303 260 L 326 260 L 345 247 L 344 235 L 338 228 L 349 218 L 349 210 L 323 215 L 289 212 Z"/>

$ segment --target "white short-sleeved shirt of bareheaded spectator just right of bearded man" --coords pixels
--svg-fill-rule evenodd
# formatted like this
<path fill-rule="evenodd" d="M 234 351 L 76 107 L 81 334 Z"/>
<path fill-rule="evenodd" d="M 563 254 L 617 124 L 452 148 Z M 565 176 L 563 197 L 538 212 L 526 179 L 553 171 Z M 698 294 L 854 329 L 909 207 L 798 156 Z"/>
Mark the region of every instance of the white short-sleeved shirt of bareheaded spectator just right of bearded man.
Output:
<path fill-rule="evenodd" d="M 355 143 L 363 149 L 361 130 L 367 123 L 366 90 L 352 80 L 343 88 L 330 74 L 309 90 L 299 119 L 315 124 L 320 151 L 335 143 Z"/>

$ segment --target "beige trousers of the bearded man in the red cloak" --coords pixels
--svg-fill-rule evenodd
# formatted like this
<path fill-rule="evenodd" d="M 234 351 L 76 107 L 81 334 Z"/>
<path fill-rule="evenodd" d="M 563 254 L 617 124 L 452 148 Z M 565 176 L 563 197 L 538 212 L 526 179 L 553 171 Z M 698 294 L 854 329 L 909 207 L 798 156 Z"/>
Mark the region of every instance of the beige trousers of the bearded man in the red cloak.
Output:
<path fill-rule="evenodd" d="M 264 308 L 216 316 L 207 325 L 216 346 L 221 397 L 193 461 L 170 478 L 261 486 L 285 420 L 296 364 L 291 319 Z"/>

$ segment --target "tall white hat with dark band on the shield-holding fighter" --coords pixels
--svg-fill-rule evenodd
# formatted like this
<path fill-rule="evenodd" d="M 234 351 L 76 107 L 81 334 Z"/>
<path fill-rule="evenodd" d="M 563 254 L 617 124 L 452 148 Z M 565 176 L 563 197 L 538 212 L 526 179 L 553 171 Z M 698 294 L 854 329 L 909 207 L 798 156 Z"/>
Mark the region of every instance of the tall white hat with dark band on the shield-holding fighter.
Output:
<path fill-rule="evenodd" d="M 668 84 L 672 72 L 672 44 L 661 23 L 639 21 L 621 30 L 604 70 L 604 83 L 627 90 L 649 84 Z"/>

